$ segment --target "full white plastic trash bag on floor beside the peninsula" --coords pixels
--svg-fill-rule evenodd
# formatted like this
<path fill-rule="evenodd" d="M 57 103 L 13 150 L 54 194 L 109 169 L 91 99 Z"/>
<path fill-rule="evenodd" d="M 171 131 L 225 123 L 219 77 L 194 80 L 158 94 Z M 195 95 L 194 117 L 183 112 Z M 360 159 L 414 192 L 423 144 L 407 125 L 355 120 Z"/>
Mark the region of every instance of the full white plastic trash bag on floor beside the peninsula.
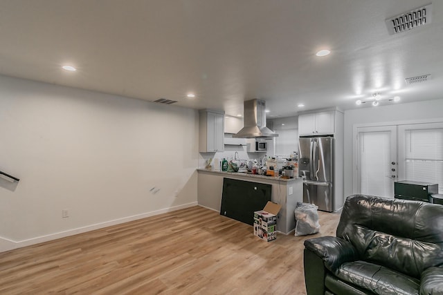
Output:
<path fill-rule="evenodd" d="M 314 204 L 297 203 L 296 211 L 296 234 L 295 236 L 306 236 L 317 234 L 320 231 L 318 223 L 318 207 Z"/>

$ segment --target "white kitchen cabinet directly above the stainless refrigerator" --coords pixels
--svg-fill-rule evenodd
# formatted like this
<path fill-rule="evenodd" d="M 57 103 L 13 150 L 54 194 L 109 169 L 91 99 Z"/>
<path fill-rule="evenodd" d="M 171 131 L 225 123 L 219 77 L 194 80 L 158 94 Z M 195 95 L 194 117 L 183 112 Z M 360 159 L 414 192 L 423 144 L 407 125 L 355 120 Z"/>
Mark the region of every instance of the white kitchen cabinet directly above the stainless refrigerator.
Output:
<path fill-rule="evenodd" d="M 299 135 L 334 134 L 335 111 L 309 113 L 298 116 Z"/>

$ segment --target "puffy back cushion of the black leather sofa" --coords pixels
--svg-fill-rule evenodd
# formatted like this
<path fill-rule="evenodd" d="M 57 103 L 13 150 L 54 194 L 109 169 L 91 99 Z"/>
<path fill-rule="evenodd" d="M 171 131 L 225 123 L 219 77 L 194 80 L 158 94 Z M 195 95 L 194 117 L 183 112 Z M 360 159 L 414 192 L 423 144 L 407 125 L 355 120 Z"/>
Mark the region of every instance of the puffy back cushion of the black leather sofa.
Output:
<path fill-rule="evenodd" d="M 337 236 L 351 242 L 361 259 L 419 278 L 424 269 L 443 265 L 443 206 L 350 196 Z"/>

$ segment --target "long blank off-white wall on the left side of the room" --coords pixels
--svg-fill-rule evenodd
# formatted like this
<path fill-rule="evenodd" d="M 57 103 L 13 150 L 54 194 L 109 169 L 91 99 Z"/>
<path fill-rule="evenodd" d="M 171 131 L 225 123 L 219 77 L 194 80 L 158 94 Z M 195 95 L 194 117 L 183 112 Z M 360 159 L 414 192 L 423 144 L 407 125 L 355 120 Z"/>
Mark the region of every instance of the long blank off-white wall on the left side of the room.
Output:
<path fill-rule="evenodd" d="M 0 138 L 0 251 L 197 204 L 195 110 L 0 76 Z"/>

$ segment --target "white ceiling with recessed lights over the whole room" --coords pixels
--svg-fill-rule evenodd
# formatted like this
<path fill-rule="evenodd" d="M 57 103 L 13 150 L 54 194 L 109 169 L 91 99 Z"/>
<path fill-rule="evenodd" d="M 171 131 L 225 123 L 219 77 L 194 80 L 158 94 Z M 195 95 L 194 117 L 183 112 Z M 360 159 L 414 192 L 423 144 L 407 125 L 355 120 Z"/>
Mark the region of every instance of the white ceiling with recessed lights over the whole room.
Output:
<path fill-rule="evenodd" d="M 443 1 L 426 26 L 385 23 L 430 1 L 0 0 L 0 73 L 234 116 L 253 98 L 268 117 L 440 99 Z"/>

